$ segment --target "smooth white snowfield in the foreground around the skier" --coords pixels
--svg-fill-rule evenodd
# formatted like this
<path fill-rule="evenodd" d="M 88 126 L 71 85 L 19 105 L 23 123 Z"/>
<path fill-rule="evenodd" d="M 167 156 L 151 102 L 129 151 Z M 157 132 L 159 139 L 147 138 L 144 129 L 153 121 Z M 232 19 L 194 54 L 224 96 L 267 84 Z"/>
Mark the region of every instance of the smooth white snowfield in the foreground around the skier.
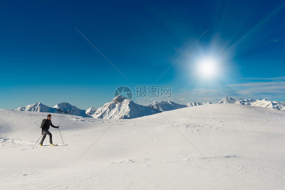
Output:
<path fill-rule="evenodd" d="M 285 186 L 284 111 L 210 104 L 131 120 L 54 113 L 52 122 L 68 146 L 34 149 L 46 113 L 2 109 L 0 114 L 0 189 Z M 58 129 L 50 132 L 53 142 L 62 144 Z"/>

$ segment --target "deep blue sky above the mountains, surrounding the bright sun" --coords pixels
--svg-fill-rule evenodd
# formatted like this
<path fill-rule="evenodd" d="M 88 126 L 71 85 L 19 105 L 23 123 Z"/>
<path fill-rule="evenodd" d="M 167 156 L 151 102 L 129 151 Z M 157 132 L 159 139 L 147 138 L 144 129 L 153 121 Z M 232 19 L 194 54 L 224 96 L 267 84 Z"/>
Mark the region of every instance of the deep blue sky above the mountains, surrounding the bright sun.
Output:
<path fill-rule="evenodd" d="M 100 107 L 122 85 L 285 101 L 283 1 L 1 1 L 0 22 L 0 108 Z"/>

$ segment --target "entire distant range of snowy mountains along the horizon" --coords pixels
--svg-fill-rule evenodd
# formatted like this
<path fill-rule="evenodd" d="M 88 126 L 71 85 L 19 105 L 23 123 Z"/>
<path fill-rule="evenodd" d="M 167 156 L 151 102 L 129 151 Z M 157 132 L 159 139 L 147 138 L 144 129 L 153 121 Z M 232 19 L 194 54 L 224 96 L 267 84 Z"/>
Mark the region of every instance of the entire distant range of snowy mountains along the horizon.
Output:
<path fill-rule="evenodd" d="M 234 99 L 231 97 L 225 97 L 218 103 L 232 103 L 242 105 L 252 105 L 258 107 L 267 107 L 285 110 L 284 102 L 270 101 L 266 99 Z M 101 119 L 133 119 L 143 116 L 153 115 L 162 111 L 169 111 L 174 109 L 180 109 L 184 107 L 192 107 L 204 104 L 212 104 L 211 102 L 199 103 L 189 102 L 187 104 L 178 104 L 170 100 L 164 102 L 153 102 L 148 106 L 136 104 L 135 102 L 128 100 L 124 96 L 117 96 L 111 102 L 105 103 L 100 108 L 90 107 L 87 110 L 79 109 L 74 105 L 66 102 L 56 104 L 53 107 L 49 107 L 40 102 L 19 107 L 16 111 L 35 111 L 35 112 L 50 112 L 50 113 L 62 113 L 67 115 L 75 115 L 82 117 L 93 117 Z"/>

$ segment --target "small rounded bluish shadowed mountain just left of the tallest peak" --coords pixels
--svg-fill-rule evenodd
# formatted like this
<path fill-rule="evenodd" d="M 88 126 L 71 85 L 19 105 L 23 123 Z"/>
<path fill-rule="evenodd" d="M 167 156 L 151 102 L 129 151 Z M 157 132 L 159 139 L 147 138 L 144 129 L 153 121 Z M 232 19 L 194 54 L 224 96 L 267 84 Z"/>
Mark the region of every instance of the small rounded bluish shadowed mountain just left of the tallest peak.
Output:
<path fill-rule="evenodd" d="M 55 111 L 56 113 L 63 113 L 63 114 L 74 115 L 74 116 L 86 116 L 85 110 L 79 109 L 76 106 L 71 105 L 66 102 L 56 104 L 54 108 L 56 108 L 56 111 Z"/>

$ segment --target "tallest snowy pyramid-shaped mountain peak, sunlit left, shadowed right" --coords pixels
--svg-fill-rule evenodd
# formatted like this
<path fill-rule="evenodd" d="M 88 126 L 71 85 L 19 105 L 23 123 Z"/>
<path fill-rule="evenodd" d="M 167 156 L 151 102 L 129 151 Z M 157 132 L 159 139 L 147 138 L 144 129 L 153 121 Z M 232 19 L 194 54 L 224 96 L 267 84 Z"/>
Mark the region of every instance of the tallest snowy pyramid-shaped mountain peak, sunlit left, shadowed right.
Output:
<path fill-rule="evenodd" d="M 101 119 L 132 119 L 149 116 L 158 112 L 156 109 L 136 104 L 119 95 L 111 102 L 105 103 L 102 107 L 98 108 L 95 113 L 90 116 Z"/>

